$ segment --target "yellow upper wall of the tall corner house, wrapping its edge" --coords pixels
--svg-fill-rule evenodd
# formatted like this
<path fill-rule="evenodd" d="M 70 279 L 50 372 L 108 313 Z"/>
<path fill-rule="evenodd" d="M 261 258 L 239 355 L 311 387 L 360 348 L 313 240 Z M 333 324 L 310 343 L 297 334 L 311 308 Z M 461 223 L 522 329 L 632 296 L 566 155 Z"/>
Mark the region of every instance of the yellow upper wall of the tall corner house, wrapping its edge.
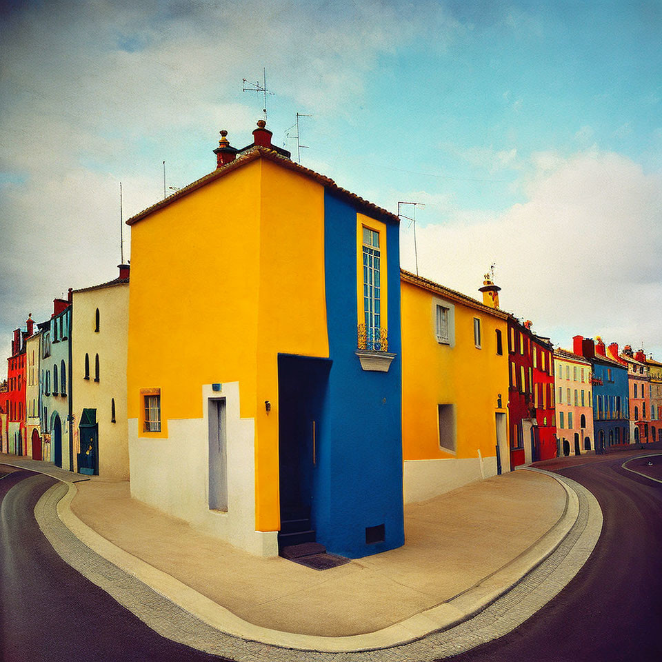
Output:
<path fill-rule="evenodd" d="M 239 381 L 257 530 L 279 528 L 277 353 L 328 357 L 323 200 L 257 159 L 132 225 L 128 417 L 165 438 L 202 417 L 201 385 Z M 161 389 L 161 432 L 142 432 L 141 388 Z"/>

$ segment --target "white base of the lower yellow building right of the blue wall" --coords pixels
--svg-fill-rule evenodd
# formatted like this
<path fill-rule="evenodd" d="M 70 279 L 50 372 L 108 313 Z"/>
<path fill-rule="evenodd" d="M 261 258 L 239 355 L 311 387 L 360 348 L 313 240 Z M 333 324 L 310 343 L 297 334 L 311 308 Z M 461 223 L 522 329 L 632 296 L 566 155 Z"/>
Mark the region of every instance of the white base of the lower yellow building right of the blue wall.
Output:
<path fill-rule="evenodd" d="M 483 457 L 485 478 L 496 476 L 496 457 Z M 462 485 L 481 480 L 479 458 L 405 460 L 403 491 L 405 503 L 427 501 Z"/>

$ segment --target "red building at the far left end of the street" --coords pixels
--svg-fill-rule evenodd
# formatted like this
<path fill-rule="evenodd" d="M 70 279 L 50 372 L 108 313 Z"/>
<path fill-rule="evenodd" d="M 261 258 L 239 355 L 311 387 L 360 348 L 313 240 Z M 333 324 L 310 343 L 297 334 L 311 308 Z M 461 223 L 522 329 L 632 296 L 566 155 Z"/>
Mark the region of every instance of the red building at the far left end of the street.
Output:
<path fill-rule="evenodd" d="M 7 359 L 7 386 L 4 394 L 8 452 L 27 455 L 26 443 L 26 339 L 32 335 L 32 316 L 26 322 L 27 330 L 14 330 L 12 355 Z"/>

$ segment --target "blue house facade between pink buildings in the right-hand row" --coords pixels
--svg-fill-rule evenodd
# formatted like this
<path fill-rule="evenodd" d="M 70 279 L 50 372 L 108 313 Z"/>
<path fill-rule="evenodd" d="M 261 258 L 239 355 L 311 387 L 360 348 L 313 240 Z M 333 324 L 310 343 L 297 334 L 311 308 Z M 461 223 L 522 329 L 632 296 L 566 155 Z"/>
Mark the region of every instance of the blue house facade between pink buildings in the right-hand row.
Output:
<path fill-rule="evenodd" d="M 592 359 L 593 377 L 602 380 L 602 385 L 593 385 L 593 434 L 595 439 L 595 448 L 600 450 L 600 432 L 604 433 L 604 444 L 607 448 L 610 443 L 625 443 L 623 434 L 628 434 L 630 421 L 628 419 L 628 369 L 614 365 L 614 363 L 603 363 L 600 359 Z M 612 380 L 608 379 L 608 370 L 612 371 Z M 602 397 L 603 418 L 598 418 L 598 399 Z M 621 416 L 619 418 L 615 410 L 616 398 L 621 399 Z M 610 417 L 605 412 L 608 410 L 606 403 L 612 402 L 612 414 Z M 616 428 L 620 428 L 619 437 L 616 437 Z M 610 432 L 612 439 L 610 442 Z"/>

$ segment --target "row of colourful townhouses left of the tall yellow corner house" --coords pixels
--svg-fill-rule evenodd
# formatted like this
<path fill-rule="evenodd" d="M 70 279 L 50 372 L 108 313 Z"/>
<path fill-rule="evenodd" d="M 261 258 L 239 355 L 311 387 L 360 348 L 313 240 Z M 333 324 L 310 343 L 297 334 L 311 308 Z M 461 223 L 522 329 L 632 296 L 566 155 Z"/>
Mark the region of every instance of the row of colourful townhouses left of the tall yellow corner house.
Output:
<path fill-rule="evenodd" d="M 128 479 L 128 265 L 54 299 L 50 319 L 14 331 L 0 450 L 81 474 Z M 1 405 L 0 405 L 1 406 Z"/>

